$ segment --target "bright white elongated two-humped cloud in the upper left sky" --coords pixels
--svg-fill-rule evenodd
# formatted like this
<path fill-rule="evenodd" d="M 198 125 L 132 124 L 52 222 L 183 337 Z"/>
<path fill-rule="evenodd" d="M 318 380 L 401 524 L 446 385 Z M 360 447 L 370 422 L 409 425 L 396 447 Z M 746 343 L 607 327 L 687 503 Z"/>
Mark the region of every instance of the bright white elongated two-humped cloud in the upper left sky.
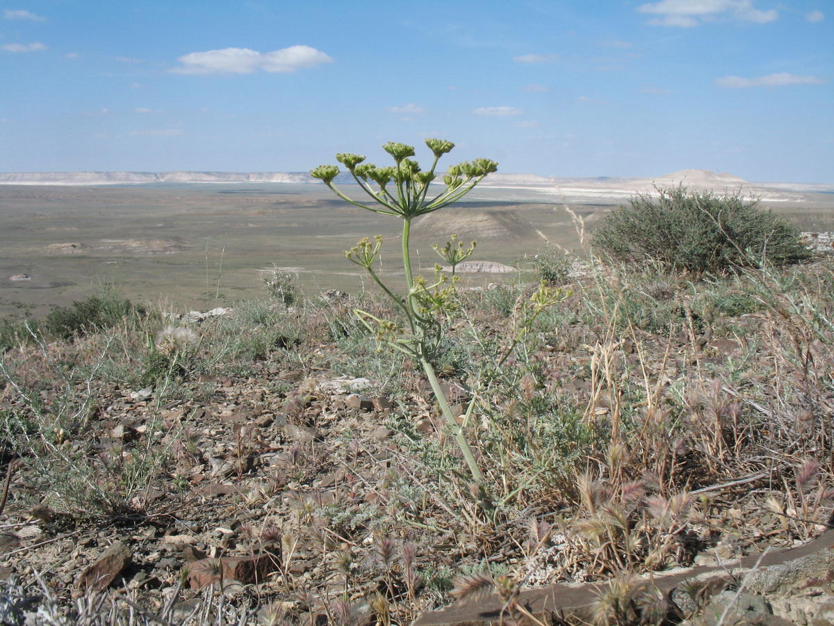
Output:
<path fill-rule="evenodd" d="M 224 48 L 208 52 L 190 53 L 178 58 L 182 65 L 173 68 L 181 74 L 248 74 L 259 69 L 269 73 L 291 73 L 300 68 L 312 68 L 320 63 L 332 63 L 327 54 L 309 46 L 290 46 L 271 53 L 259 53 L 249 48 Z"/>

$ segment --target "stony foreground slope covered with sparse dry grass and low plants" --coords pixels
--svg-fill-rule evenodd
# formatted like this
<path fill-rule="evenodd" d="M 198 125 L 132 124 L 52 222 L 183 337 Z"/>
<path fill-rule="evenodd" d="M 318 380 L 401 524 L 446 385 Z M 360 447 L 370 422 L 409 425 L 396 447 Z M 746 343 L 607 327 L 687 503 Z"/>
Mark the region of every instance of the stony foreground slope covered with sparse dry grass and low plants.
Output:
<path fill-rule="evenodd" d="M 831 260 L 709 280 L 567 263 L 556 306 L 535 281 L 431 308 L 448 283 L 412 277 L 414 308 L 393 290 L 299 293 L 13 341 L 0 565 L 19 578 L 0 611 L 37 594 L 49 623 L 399 624 L 497 593 L 510 620 L 530 618 L 524 588 L 608 581 L 596 623 L 660 623 L 674 609 L 641 574 L 826 528 Z M 419 340 L 416 316 L 436 321 Z M 380 352 L 395 328 L 408 349 Z M 73 601 L 117 537 L 133 564 Z M 228 577 L 224 558 L 263 554 L 268 575 Z"/>

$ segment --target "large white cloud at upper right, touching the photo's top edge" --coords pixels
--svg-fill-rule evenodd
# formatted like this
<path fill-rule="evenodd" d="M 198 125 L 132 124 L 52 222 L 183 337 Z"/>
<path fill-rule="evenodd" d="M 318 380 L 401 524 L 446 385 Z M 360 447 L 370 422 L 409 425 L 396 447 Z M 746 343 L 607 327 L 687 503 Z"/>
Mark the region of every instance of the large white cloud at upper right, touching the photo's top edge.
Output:
<path fill-rule="evenodd" d="M 779 17 L 776 9 L 761 11 L 753 0 L 661 0 L 637 7 L 640 13 L 657 15 L 649 23 L 654 26 L 693 28 L 719 17 L 729 16 L 744 22 L 768 23 Z"/>

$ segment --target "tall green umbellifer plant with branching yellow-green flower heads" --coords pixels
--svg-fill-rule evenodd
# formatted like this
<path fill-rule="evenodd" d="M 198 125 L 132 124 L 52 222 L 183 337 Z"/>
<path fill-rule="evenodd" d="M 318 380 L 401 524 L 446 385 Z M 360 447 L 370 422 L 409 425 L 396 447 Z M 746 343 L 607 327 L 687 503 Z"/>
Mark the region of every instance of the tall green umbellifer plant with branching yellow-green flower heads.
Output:
<path fill-rule="evenodd" d="M 435 392 L 440 411 L 455 432 L 455 440 L 458 442 L 461 452 L 463 452 L 472 476 L 475 481 L 481 482 L 483 477 L 478 463 L 475 461 L 475 456 L 466 441 L 462 427 L 455 420 L 449 403 L 440 389 L 440 382 L 432 364 L 443 336 L 442 317 L 455 308 L 454 288 L 450 285 L 447 277 L 440 273 L 440 266 L 435 268 L 435 279 L 433 281 L 426 280 L 422 276 L 414 276 L 409 253 L 409 235 L 414 218 L 455 203 L 474 189 L 475 185 L 485 179 L 487 175 L 495 172 L 498 169 L 498 164 L 490 159 L 475 159 L 452 165 L 443 176 L 444 186 L 442 188 L 439 186 L 430 187 L 430 183 L 437 178 L 435 168 L 440 157 L 450 152 L 455 144 L 441 139 L 426 139 L 425 143 L 435 155 L 430 169 L 425 171 L 420 169 L 420 165 L 416 161 L 410 159 L 414 156 L 414 147 L 405 144 L 384 144 L 385 152 L 394 158 L 394 165 L 387 167 L 377 167 L 374 164 L 364 163 L 364 156 L 359 156 L 359 154 L 336 154 L 336 160 L 348 169 L 359 184 L 359 188 L 369 197 L 370 201 L 367 204 L 350 199 L 333 184 L 334 179 L 339 174 L 337 165 L 319 165 L 319 167 L 310 170 L 310 175 L 323 180 L 324 184 L 332 189 L 339 198 L 350 204 L 355 204 L 380 215 L 393 215 L 403 220 L 403 265 L 407 286 L 404 296 L 395 294 L 388 285 L 384 284 L 374 270 L 374 260 L 379 255 L 379 249 L 382 245 L 381 237 L 376 237 L 374 240 L 361 240 L 359 244 L 345 254 L 353 263 L 364 267 L 371 278 L 402 310 L 406 320 L 405 325 L 399 326 L 394 321 L 379 319 L 363 310 L 354 310 L 354 312 L 364 322 L 365 326 L 376 331 L 381 341 L 385 341 L 394 350 L 404 352 L 415 361 L 420 362 L 432 391 Z M 438 189 L 442 190 L 439 193 L 430 193 Z M 471 255 L 474 249 L 474 243 L 465 248 L 462 243 L 454 238 L 443 248 L 435 246 L 435 250 L 440 257 L 453 267 Z M 474 403 L 470 406 L 474 406 Z"/>

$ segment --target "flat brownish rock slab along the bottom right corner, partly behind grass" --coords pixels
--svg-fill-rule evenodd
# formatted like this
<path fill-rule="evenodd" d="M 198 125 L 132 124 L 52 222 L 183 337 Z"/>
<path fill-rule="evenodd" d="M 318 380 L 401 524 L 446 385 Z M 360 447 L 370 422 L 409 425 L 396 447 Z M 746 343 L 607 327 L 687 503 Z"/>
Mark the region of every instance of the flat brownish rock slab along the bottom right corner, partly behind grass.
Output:
<path fill-rule="evenodd" d="M 682 583 L 709 586 L 717 591 L 731 583 L 744 582 L 751 593 L 779 593 L 796 586 L 820 584 L 834 579 L 834 530 L 799 546 L 754 555 L 721 565 L 702 565 L 664 574 L 655 573 L 651 583 L 666 597 Z M 535 618 L 549 623 L 590 623 L 591 608 L 607 583 L 560 583 L 520 593 L 518 603 Z M 412 626 L 486 626 L 515 618 L 532 623 L 522 614 L 507 613 L 504 601 L 492 594 L 472 603 L 455 603 L 423 613 Z"/>

